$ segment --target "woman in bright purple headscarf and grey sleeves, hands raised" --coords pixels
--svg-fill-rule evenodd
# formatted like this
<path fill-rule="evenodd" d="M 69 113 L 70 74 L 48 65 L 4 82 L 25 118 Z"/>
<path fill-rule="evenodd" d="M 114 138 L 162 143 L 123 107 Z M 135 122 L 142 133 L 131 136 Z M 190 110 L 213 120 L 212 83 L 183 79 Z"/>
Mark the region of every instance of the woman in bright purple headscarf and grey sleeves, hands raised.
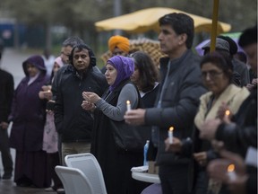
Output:
<path fill-rule="evenodd" d="M 131 177 L 131 168 L 142 165 L 143 153 L 119 151 L 113 137 L 109 119 L 124 120 L 127 109 L 126 101 L 130 101 L 132 109 L 138 107 L 139 98 L 136 86 L 130 81 L 134 64 L 130 57 L 115 56 L 107 60 L 105 73 L 110 85 L 102 98 L 96 93 L 83 92 L 82 108 L 94 110 L 94 127 L 91 153 L 96 156 L 101 166 L 107 193 L 133 194 L 140 193 L 143 187 Z M 143 148 L 142 148 L 143 149 Z"/>

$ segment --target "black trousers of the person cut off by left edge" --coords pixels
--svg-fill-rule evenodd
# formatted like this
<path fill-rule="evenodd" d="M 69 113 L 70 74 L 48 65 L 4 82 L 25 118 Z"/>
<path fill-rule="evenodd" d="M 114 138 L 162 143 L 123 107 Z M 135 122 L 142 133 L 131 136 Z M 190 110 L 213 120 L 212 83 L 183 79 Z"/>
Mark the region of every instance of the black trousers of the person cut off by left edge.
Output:
<path fill-rule="evenodd" d="M 13 159 L 10 152 L 9 137 L 7 129 L 0 127 L 0 152 L 2 154 L 2 163 L 4 165 L 4 174 L 13 173 Z"/>

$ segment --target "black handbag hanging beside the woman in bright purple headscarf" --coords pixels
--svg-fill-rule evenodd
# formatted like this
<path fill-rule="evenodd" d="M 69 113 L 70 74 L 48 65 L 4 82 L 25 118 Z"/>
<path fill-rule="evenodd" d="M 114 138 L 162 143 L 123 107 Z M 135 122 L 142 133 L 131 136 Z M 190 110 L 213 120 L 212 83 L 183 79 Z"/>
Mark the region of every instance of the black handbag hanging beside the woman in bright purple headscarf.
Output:
<path fill-rule="evenodd" d="M 150 127 L 132 126 L 123 121 L 110 119 L 113 136 L 118 150 L 143 152 L 146 140 L 150 140 Z"/>

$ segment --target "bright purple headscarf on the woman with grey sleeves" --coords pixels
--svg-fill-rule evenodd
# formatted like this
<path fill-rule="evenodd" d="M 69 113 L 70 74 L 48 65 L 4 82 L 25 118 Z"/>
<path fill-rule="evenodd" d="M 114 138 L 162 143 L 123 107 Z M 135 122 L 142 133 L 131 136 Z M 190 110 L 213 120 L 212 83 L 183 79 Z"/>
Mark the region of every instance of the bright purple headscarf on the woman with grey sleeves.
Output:
<path fill-rule="evenodd" d="M 134 71 L 134 62 L 130 57 L 115 56 L 107 60 L 107 64 L 114 66 L 117 71 L 115 83 L 109 86 L 109 91 L 114 91 L 123 80 L 130 78 Z"/>

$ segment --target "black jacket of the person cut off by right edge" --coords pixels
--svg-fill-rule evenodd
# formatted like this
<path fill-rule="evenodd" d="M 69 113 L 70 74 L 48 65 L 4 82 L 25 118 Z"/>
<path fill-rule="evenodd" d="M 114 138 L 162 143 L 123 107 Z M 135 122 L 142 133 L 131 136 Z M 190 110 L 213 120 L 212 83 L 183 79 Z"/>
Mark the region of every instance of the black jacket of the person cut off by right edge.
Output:
<path fill-rule="evenodd" d="M 223 141 L 229 151 L 245 158 L 248 146 L 257 148 L 257 87 L 240 106 L 233 118 L 235 124 L 221 124 L 216 139 Z"/>

